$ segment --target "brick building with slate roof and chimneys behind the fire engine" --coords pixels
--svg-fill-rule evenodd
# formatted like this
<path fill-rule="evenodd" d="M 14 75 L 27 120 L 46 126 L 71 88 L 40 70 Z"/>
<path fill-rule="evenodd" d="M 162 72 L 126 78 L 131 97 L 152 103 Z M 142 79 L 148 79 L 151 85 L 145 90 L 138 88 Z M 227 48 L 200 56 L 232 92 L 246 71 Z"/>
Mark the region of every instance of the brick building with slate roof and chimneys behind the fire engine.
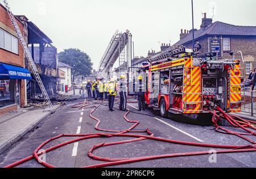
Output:
<path fill-rule="evenodd" d="M 192 48 L 192 29 L 181 29 L 180 40 L 175 45 L 185 45 Z M 200 29 L 195 29 L 195 44 L 200 44 L 200 53 L 216 52 L 218 59 L 232 58 L 230 52 L 237 55 L 243 53 L 243 76 L 247 76 L 250 70 L 256 68 L 256 27 L 232 25 L 223 22 L 212 22 L 206 13 L 202 19 Z M 217 48 L 216 48 L 217 47 Z M 237 58 L 241 58 L 238 55 Z"/>

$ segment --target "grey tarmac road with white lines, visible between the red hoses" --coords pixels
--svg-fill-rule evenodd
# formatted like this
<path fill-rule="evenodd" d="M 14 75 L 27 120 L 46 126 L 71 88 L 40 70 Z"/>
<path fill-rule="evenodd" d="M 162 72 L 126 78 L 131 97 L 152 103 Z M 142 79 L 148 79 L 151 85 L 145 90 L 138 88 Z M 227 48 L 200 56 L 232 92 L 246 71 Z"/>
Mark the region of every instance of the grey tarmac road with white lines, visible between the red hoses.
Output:
<path fill-rule="evenodd" d="M 84 100 L 76 101 L 80 103 Z M 32 152 L 41 143 L 49 138 L 59 134 L 89 134 L 98 133 L 94 129 L 96 121 L 89 117 L 91 109 L 78 110 L 71 108 L 73 102 L 69 102 L 66 106 L 62 106 L 56 113 L 47 116 L 43 121 L 36 125 L 35 130 L 30 131 L 15 143 L 9 150 L 0 155 L 0 167 L 14 161 L 30 156 Z M 115 108 L 118 105 L 115 104 Z M 138 112 L 137 104 L 129 104 L 131 110 L 129 119 L 139 120 L 139 125 L 134 130 L 150 129 L 156 137 L 185 140 L 190 142 L 205 142 L 213 144 L 250 144 L 245 140 L 233 135 L 217 133 L 213 126 L 198 126 L 189 123 L 176 122 L 170 118 L 160 118 L 158 112 L 147 109 L 146 112 Z M 123 130 L 131 126 L 123 120 L 125 112 L 114 110 L 109 112 L 108 107 L 101 105 L 93 116 L 100 118 L 100 127 L 102 129 Z M 144 114 L 147 114 L 145 116 Z M 230 128 L 232 129 L 232 128 Z M 250 137 L 256 140 L 255 136 Z M 55 146 L 61 142 L 65 142 L 73 138 L 60 138 L 52 141 L 44 146 L 45 148 Z M 104 163 L 96 161 L 88 157 L 89 149 L 98 143 L 113 142 L 130 138 L 94 138 L 82 140 L 77 143 L 68 144 L 67 146 L 57 148 L 46 154 L 47 163 L 61 168 L 79 168 L 86 165 Z M 158 154 L 172 154 L 176 152 L 191 152 L 212 150 L 212 148 L 183 146 L 179 144 L 156 142 L 154 140 L 142 140 L 135 143 L 120 144 L 117 146 L 108 146 L 99 148 L 93 152 L 94 155 L 112 158 L 151 156 Z M 216 163 L 209 162 L 209 155 L 174 157 L 167 159 L 158 159 L 150 161 L 142 161 L 131 164 L 115 165 L 116 168 L 194 168 L 194 167 L 218 167 L 218 168 L 246 168 L 256 167 L 255 152 L 244 152 L 234 154 L 218 154 Z M 18 168 L 35 167 L 41 168 L 35 159 L 20 164 Z"/>

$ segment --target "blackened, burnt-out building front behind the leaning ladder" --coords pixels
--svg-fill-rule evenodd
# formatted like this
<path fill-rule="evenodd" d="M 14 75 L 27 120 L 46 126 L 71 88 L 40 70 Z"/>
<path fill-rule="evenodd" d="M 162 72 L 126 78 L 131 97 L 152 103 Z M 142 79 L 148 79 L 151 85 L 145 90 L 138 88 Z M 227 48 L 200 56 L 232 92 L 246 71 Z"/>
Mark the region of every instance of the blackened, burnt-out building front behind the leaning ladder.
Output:
<path fill-rule="evenodd" d="M 38 69 L 40 78 L 46 88 L 49 97 L 56 96 L 57 80 L 59 78 L 57 69 L 57 49 L 52 45 L 52 40 L 43 33 L 34 23 L 28 21 L 26 16 L 17 16 L 25 24 L 27 29 L 27 43 L 28 48 L 36 67 Z M 28 67 L 28 65 L 26 64 Z M 30 68 L 28 67 L 28 70 Z M 43 95 L 33 77 L 27 81 L 27 99 L 42 99 Z"/>

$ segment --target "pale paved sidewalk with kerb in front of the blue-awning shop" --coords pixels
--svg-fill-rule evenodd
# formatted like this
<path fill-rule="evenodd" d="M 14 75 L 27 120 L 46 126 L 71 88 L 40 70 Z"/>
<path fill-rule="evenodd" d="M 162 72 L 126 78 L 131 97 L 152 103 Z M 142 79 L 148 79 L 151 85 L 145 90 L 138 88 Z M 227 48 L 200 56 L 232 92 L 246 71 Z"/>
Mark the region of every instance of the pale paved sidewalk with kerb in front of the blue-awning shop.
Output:
<path fill-rule="evenodd" d="M 59 105 L 53 106 L 55 110 Z M 20 108 L 0 116 L 0 154 L 15 144 L 40 121 L 51 114 L 49 109 Z"/>

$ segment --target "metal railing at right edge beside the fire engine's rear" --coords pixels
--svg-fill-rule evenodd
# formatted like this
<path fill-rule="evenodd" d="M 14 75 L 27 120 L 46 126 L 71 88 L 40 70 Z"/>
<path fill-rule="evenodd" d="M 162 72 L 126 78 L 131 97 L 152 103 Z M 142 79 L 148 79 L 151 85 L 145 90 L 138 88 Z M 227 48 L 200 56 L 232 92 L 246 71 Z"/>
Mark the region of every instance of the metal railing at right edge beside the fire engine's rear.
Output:
<path fill-rule="evenodd" d="M 256 91 L 242 91 L 242 112 L 256 114 Z"/>

